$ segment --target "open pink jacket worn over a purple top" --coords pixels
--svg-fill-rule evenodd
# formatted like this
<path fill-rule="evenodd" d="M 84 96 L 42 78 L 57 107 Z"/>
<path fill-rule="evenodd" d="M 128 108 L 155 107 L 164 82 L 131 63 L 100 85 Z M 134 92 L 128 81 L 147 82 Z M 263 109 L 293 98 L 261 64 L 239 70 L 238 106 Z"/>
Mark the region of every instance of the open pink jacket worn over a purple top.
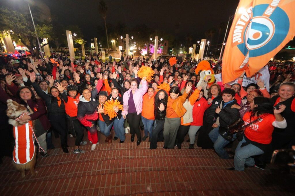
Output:
<path fill-rule="evenodd" d="M 133 94 L 133 101 L 135 104 L 135 109 L 137 114 L 140 114 L 142 111 L 142 97 L 148 90 L 148 83 L 146 81 L 141 81 L 142 87 L 137 89 Z M 130 97 L 131 89 L 126 91 L 123 95 L 123 111 L 122 115 L 128 114 L 128 99 Z"/>

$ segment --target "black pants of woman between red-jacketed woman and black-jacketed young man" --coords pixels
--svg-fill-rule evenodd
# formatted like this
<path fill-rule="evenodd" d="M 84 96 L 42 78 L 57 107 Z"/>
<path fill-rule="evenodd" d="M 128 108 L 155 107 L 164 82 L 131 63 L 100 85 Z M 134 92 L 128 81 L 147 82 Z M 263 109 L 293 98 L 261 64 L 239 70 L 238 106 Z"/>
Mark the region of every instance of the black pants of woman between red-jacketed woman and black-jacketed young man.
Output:
<path fill-rule="evenodd" d="M 203 126 L 199 130 L 199 136 L 197 140 L 197 146 L 202 147 L 202 149 L 212 149 L 213 142 L 209 137 L 210 131 L 213 129 L 212 123 L 204 122 Z"/>

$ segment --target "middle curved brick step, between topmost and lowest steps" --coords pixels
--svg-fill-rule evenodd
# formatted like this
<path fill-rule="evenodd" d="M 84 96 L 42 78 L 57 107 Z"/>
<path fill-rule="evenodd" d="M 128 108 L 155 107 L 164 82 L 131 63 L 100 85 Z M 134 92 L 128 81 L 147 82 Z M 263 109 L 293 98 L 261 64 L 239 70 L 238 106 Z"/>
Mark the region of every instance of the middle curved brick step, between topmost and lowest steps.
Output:
<path fill-rule="evenodd" d="M 37 182 L 43 180 L 57 180 L 62 178 L 81 177 L 89 175 L 113 174 L 122 172 L 144 171 L 174 171 L 174 170 L 226 170 L 232 167 L 231 160 L 213 158 L 141 158 L 89 161 L 79 163 L 67 163 L 63 165 L 50 165 L 36 167 L 37 176 L 27 172 L 25 178 L 21 178 L 20 172 L 13 170 L 3 172 L 1 186 L 17 185 L 23 182 Z"/>

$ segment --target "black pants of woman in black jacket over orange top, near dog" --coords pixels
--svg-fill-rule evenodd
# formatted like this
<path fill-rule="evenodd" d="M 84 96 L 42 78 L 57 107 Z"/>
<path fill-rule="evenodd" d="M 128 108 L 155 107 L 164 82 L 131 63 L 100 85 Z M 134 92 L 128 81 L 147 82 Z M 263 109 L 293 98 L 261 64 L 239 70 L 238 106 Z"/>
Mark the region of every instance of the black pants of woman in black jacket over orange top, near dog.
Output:
<path fill-rule="evenodd" d="M 60 135 L 61 147 L 67 147 L 68 137 L 67 137 L 67 124 L 65 121 L 65 115 L 60 115 L 60 116 L 49 115 L 48 118 L 53 129 L 55 129 L 55 131 L 57 131 L 58 134 Z"/>

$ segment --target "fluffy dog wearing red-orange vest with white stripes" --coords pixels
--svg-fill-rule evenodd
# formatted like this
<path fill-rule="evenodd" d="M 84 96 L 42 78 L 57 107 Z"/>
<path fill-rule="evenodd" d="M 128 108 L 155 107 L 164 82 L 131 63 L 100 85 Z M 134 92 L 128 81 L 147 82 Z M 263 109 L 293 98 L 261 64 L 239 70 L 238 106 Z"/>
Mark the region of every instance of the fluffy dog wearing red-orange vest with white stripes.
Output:
<path fill-rule="evenodd" d="M 17 118 L 23 114 L 32 114 L 32 110 L 24 105 L 18 104 L 12 99 L 7 100 L 6 114 L 9 117 L 8 123 L 13 125 L 13 136 L 15 146 L 13 150 L 13 165 L 25 177 L 25 170 L 30 170 L 32 176 L 36 165 L 36 153 L 34 136 L 32 130 L 32 121 L 19 122 Z"/>

